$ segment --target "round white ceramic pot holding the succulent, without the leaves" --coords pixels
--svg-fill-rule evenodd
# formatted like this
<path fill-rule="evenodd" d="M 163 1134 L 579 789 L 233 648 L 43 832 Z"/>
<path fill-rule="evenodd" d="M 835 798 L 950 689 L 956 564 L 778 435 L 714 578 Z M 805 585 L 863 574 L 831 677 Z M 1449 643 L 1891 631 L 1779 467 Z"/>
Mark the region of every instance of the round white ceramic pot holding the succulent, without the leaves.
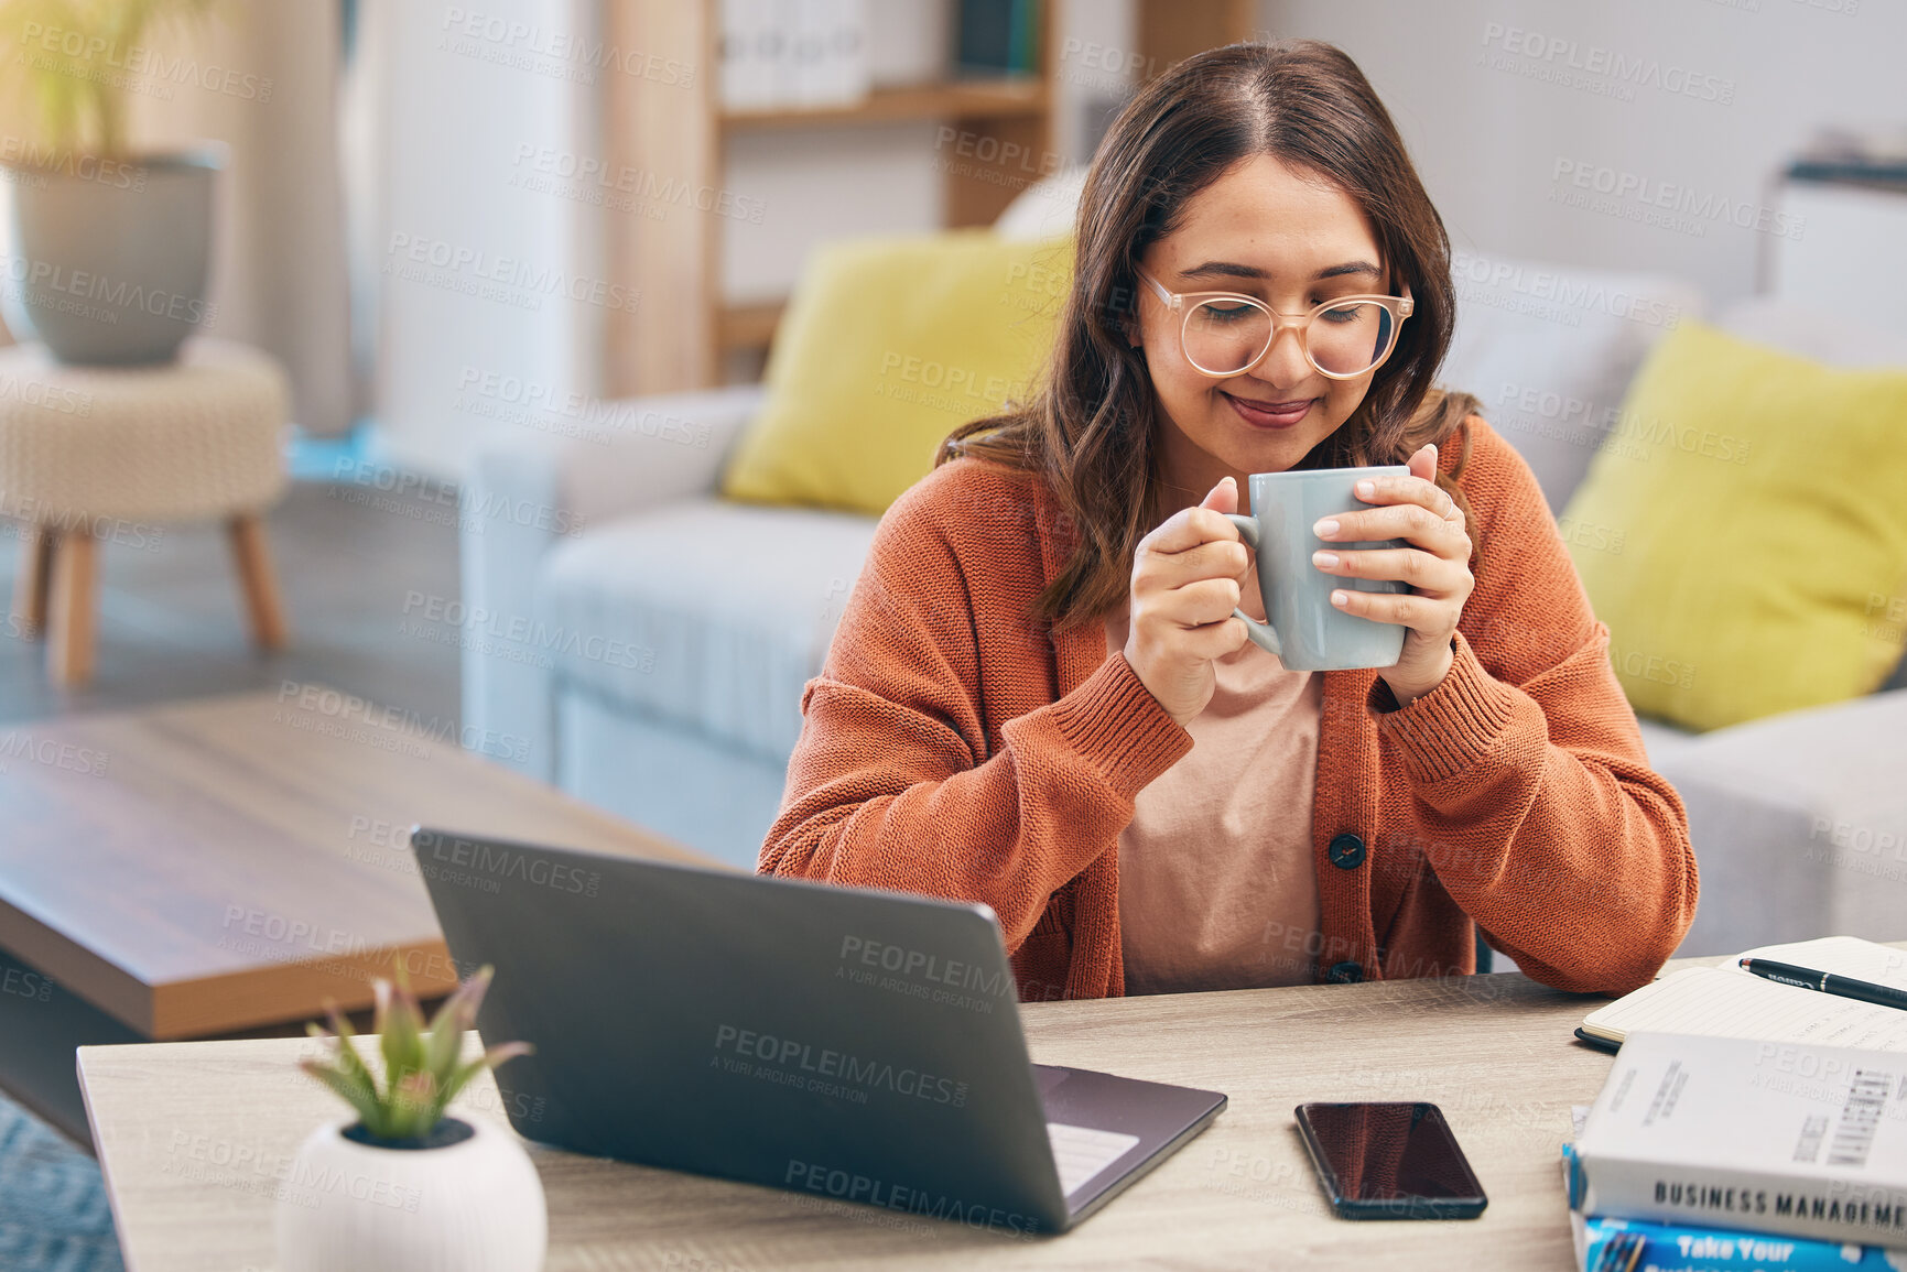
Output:
<path fill-rule="evenodd" d="M 442 1148 L 313 1131 L 278 1192 L 280 1272 L 542 1272 L 549 1219 L 530 1154 L 484 1118 Z M 452 1129 L 454 1133 L 454 1129 Z"/>

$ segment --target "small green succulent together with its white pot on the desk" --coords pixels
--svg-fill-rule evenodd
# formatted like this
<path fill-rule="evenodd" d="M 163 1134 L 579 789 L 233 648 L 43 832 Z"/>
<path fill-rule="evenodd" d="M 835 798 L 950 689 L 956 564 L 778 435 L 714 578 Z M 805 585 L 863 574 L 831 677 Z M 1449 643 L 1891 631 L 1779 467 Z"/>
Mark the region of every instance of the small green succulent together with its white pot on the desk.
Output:
<path fill-rule="evenodd" d="M 332 1055 L 299 1068 L 351 1104 L 353 1116 L 311 1133 L 292 1159 L 277 1205 L 280 1272 L 538 1272 L 547 1215 L 543 1184 L 507 1127 L 450 1118 L 444 1106 L 486 1068 L 530 1051 L 490 1047 L 461 1058 L 463 1032 L 490 986 L 490 967 L 465 980 L 423 1022 L 402 975 L 376 982 L 383 1081 L 353 1043 L 336 1003 Z M 313 1037 L 326 1037 L 317 1024 Z"/>

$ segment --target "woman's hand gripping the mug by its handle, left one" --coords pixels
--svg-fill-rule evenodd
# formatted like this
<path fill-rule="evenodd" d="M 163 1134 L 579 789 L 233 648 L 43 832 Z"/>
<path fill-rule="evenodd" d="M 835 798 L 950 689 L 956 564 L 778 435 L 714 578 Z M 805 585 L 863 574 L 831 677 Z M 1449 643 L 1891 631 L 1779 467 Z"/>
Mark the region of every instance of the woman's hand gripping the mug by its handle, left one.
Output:
<path fill-rule="evenodd" d="M 1224 519 L 1236 511 L 1238 482 L 1224 477 L 1198 507 L 1179 509 L 1138 540 L 1133 555 L 1125 660 L 1180 728 L 1211 702 L 1213 660 L 1249 639 L 1245 624 L 1230 622 L 1249 564 Z"/>

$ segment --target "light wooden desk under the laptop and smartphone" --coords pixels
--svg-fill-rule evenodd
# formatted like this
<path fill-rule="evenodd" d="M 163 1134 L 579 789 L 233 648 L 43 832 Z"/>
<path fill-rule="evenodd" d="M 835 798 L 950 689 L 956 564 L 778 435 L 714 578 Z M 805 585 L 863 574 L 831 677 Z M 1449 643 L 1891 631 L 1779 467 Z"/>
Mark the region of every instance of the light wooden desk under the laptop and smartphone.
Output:
<path fill-rule="evenodd" d="M 1712 961 L 1712 959 L 1692 959 Z M 532 1146 L 549 1272 L 683 1268 L 1571 1268 L 1560 1148 L 1611 1058 L 1573 1041 L 1600 999 L 1524 976 L 1022 1007 L 1036 1060 L 1211 1087 L 1203 1135 L 1079 1230 L 1032 1241 Z M 273 1262 L 271 1171 L 343 1106 L 292 1068 L 309 1039 L 80 1049 L 133 1272 Z M 1476 1221 L 1346 1222 L 1314 1182 L 1302 1100 L 1434 1100 L 1489 1194 Z M 502 1119 L 484 1077 L 465 1098 Z M 235 1163 L 238 1154 L 242 1163 Z M 259 1163 L 259 1165 L 252 1165 Z"/>

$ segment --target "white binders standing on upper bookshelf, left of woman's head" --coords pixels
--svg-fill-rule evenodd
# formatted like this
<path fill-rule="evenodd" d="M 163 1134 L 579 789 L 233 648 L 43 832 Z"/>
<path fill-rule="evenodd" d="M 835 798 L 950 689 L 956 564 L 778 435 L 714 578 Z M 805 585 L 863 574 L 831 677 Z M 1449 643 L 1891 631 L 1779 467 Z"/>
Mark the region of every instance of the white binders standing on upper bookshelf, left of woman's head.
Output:
<path fill-rule="evenodd" d="M 732 111 L 854 105 L 871 84 L 870 0 L 721 0 L 721 101 Z"/>

